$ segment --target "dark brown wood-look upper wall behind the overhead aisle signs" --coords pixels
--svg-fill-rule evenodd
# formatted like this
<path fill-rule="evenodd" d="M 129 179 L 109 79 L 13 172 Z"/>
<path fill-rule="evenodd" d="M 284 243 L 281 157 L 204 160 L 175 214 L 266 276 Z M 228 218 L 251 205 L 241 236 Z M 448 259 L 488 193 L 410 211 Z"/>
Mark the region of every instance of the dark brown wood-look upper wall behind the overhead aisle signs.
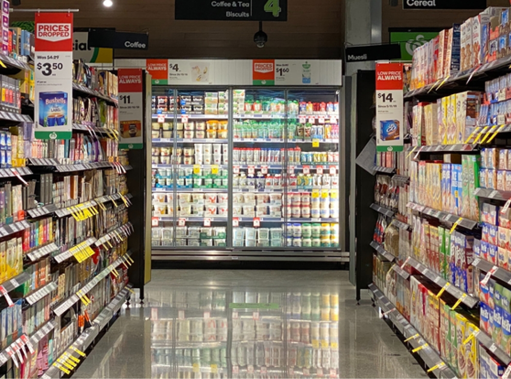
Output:
<path fill-rule="evenodd" d="M 118 50 L 115 57 L 150 58 L 317 58 L 339 59 L 344 45 L 344 2 L 288 0 L 287 22 L 265 22 L 264 49 L 253 43 L 254 21 L 174 20 L 173 0 L 22 0 L 19 8 L 78 8 L 76 27 L 109 27 L 149 32 L 149 51 Z M 31 13 L 12 13 L 14 20 L 33 20 Z"/>

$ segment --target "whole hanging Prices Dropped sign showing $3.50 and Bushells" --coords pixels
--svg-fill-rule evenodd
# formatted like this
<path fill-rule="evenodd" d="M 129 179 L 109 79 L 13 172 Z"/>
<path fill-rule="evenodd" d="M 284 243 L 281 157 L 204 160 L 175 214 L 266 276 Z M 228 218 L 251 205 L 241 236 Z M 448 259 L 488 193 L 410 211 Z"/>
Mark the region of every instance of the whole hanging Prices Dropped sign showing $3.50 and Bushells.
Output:
<path fill-rule="evenodd" d="M 35 137 L 71 139 L 73 13 L 35 14 Z"/>

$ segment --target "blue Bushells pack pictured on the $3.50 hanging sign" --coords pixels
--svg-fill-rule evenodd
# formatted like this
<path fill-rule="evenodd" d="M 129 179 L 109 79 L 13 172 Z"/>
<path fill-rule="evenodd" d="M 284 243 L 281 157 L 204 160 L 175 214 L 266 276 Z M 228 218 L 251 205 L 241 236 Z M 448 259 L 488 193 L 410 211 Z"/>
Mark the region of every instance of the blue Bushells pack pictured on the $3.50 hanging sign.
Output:
<path fill-rule="evenodd" d="M 68 106 L 67 92 L 39 92 L 39 125 L 67 125 Z"/>

